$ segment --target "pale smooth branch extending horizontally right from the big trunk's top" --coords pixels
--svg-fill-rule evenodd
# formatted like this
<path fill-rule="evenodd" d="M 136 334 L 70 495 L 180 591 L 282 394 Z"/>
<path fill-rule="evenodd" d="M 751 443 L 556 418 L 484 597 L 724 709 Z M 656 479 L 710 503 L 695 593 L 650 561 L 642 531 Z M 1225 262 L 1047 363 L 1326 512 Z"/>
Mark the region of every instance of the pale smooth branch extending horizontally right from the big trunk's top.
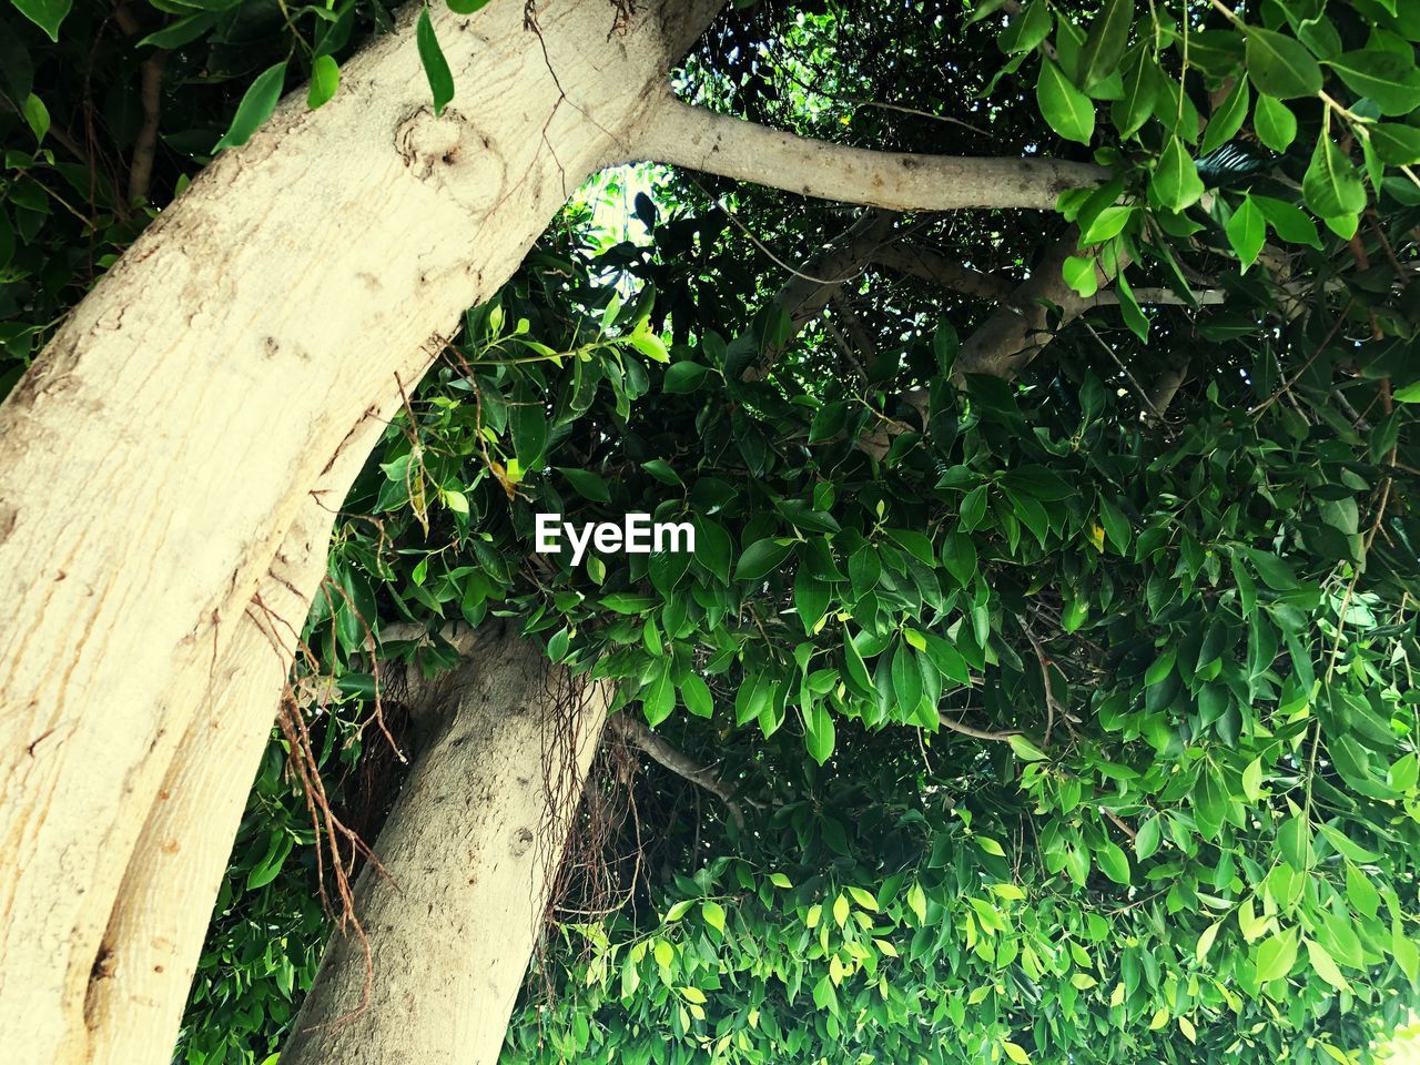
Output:
<path fill-rule="evenodd" d="M 669 94 L 632 142 L 636 159 L 842 203 L 893 210 L 1034 207 L 1051 210 L 1066 189 L 1108 172 L 1059 159 L 905 155 L 848 148 L 690 106 Z"/>

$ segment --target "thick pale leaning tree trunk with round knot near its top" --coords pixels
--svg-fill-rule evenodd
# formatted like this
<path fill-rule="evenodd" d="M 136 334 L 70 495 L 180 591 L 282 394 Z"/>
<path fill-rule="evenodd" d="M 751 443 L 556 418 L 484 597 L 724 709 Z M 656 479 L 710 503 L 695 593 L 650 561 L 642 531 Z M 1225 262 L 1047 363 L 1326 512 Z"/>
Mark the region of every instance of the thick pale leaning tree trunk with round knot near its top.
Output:
<path fill-rule="evenodd" d="M 102 937 L 183 737 L 219 706 L 264 734 L 283 670 L 240 666 L 267 652 L 239 619 L 268 574 L 294 569 L 310 601 L 325 542 L 291 540 L 308 493 L 625 156 L 717 7 L 646 3 L 609 36 L 605 0 L 558 0 L 537 33 L 523 4 L 440 6 L 457 97 L 437 119 L 408 13 L 331 102 L 294 94 L 193 182 L 0 408 L 0 1045 L 17 1061 L 89 1056 L 87 990 L 124 964 Z M 283 545 L 305 557 L 277 562 Z M 200 807 L 172 828 L 213 831 Z M 203 868 L 182 905 L 206 914 Z M 170 1031 L 133 1027 L 131 1061 L 166 1061 Z"/>

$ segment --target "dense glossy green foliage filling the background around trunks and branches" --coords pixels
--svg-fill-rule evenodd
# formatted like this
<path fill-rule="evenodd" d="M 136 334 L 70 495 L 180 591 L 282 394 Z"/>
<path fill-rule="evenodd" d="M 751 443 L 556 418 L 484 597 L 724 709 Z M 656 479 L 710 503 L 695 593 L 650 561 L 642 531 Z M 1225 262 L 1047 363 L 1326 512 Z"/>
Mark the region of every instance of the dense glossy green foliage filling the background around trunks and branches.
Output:
<path fill-rule="evenodd" d="M 165 195 L 250 133 L 268 64 L 315 70 L 382 10 L 293 9 L 307 41 L 254 0 L 153 6 L 182 9 Z M 1362 1061 L 1420 991 L 1420 6 L 876 9 L 748 7 L 684 91 L 863 146 L 1093 149 L 1112 179 L 1062 196 L 1078 233 L 980 212 L 895 236 L 1012 284 L 1078 237 L 1065 277 L 1116 301 L 1059 321 L 1012 382 L 958 388 L 993 305 L 886 271 L 784 349 L 765 248 L 816 247 L 849 210 L 670 178 L 598 251 L 569 210 L 345 504 L 295 689 L 332 791 L 383 743 L 358 731 L 369 630 L 427 625 L 381 660 L 442 669 L 443 625 L 491 613 L 737 785 L 744 831 L 660 771 L 598 780 L 636 811 L 606 855 L 626 902 L 552 930 L 508 1061 Z M 34 146 L 31 91 L 71 131 L 95 106 L 62 77 L 81 50 L 102 45 L 104 106 L 133 106 L 142 53 L 85 18 L 57 48 L 0 27 L 36 71 L 6 64 L 0 112 L 14 372 L 148 217 Z M 122 158 L 136 131 L 105 128 L 88 151 Z M 1184 365 L 1160 417 L 1145 395 Z M 531 552 L 538 511 L 642 510 L 694 521 L 696 554 Z M 280 765 L 274 744 L 195 1064 L 274 1051 L 320 950 Z"/>

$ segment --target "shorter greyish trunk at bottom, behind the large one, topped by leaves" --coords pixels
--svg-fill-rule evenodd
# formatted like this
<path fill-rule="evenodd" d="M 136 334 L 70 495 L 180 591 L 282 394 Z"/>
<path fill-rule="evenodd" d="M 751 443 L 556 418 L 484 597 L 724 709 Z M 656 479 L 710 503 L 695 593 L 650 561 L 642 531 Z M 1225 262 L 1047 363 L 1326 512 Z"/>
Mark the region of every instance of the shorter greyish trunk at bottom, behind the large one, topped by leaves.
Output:
<path fill-rule="evenodd" d="M 419 751 L 281 1065 L 494 1065 L 609 689 L 514 632 L 474 636 L 416 716 Z M 425 701 L 425 700 L 420 700 Z"/>

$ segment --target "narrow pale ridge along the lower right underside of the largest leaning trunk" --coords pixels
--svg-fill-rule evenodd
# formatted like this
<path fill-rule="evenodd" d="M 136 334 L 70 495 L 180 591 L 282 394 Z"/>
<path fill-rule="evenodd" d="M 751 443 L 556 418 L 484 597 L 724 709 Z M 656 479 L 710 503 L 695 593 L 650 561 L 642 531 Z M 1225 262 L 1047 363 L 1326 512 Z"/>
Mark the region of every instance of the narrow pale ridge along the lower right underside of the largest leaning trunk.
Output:
<path fill-rule="evenodd" d="M 348 484 L 383 429 L 383 419 L 368 420 L 322 481 Z M 231 839 L 271 731 L 270 696 L 281 690 L 310 612 L 297 589 L 321 582 L 342 490 L 310 494 L 257 595 L 233 622 L 237 632 L 214 663 L 212 699 L 168 767 L 104 933 L 102 964 L 89 980 L 84 1021 L 94 1065 L 158 1061 L 153 1048 L 178 1039 Z"/>

